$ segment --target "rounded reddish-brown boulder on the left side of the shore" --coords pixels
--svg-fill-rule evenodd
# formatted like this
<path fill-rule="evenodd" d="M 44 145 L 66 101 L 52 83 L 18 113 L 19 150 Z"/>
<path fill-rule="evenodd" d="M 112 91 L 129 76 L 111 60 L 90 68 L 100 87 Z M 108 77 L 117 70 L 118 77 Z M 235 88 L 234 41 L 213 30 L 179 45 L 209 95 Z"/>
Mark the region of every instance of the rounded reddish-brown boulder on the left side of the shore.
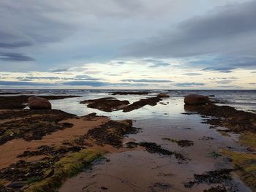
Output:
<path fill-rule="evenodd" d="M 38 96 L 31 96 L 28 99 L 29 101 L 29 108 L 31 110 L 45 110 L 51 109 L 51 104 L 47 99 Z"/>

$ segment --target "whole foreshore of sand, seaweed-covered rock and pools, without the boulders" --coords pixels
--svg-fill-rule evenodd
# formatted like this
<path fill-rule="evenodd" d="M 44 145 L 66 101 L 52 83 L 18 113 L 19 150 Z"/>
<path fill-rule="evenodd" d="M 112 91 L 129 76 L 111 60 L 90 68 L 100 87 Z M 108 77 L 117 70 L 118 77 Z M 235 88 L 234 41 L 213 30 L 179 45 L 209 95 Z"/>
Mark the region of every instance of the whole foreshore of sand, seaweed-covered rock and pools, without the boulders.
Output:
<path fill-rule="evenodd" d="M 0 96 L 1 191 L 255 191 L 255 113 L 158 94 Z"/>

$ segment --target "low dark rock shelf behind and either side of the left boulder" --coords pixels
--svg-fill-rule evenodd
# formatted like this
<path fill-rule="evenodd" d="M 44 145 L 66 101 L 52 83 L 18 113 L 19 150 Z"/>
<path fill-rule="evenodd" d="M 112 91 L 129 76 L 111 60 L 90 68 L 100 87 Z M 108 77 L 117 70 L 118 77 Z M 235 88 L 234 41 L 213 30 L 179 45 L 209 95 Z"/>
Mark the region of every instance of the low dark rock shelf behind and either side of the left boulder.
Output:
<path fill-rule="evenodd" d="M 22 109 L 26 107 L 26 103 L 31 95 L 21 96 L 0 96 L 0 110 Z M 48 100 L 65 99 L 78 96 L 40 96 Z"/>

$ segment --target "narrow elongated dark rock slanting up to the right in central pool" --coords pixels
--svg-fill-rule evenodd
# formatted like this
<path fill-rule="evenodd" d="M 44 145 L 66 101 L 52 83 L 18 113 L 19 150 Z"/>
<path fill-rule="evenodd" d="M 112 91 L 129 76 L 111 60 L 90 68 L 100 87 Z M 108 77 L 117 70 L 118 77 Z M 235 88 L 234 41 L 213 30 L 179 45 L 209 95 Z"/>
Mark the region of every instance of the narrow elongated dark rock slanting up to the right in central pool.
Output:
<path fill-rule="evenodd" d="M 134 103 L 129 104 L 127 107 L 124 107 L 123 112 L 138 110 L 146 105 L 155 106 L 159 101 L 162 101 L 162 99 L 160 99 L 159 97 L 149 97 L 147 99 L 140 99 L 140 101 L 135 101 Z"/>

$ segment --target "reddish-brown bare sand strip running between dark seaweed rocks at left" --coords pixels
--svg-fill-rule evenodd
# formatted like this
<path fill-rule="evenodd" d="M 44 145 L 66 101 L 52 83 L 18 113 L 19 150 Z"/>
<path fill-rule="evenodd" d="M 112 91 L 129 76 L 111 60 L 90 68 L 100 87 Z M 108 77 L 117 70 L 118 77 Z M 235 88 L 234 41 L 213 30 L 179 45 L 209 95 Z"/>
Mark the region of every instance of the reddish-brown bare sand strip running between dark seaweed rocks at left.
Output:
<path fill-rule="evenodd" d="M 58 145 L 69 139 L 73 139 L 76 136 L 84 135 L 90 128 L 95 128 L 108 122 L 107 117 L 97 117 L 93 120 L 83 120 L 83 118 L 72 118 L 68 120 L 62 120 L 60 123 L 72 123 L 72 128 L 65 128 L 48 134 L 41 140 L 25 141 L 24 139 L 12 139 L 11 141 L 0 145 L 0 169 L 14 164 L 20 159 L 31 160 L 33 158 L 18 158 L 17 156 L 22 154 L 26 150 L 36 150 L 37 147 L 42 145 Z"/>

